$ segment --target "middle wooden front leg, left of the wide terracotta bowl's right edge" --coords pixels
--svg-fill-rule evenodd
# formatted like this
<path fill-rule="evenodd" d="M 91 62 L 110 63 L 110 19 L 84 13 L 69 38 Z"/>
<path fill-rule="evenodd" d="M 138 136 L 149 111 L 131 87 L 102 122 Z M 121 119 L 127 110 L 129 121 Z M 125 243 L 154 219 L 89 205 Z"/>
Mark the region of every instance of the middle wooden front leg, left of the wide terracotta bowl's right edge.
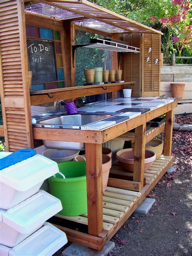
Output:
<path fill-rule="evenodd" d="M 145 162 L 146 123 L 135 128 L 133 181 L 141 182 L 143 188 Z"/>

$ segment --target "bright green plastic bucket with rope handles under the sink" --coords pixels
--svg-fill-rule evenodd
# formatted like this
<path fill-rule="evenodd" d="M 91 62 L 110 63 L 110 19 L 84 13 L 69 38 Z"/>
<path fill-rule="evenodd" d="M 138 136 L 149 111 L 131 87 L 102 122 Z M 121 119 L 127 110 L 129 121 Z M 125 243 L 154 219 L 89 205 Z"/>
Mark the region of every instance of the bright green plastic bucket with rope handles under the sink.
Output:
<path fill-rule="evenodd" d="M 77 216 L 87 213 L 87 185 L 85 162 L 70 161 L 58 164 L 65 179 L 56 174 L 49 178 L 51 194 L 61 200 L 62 211 L 66 216 Z"/>

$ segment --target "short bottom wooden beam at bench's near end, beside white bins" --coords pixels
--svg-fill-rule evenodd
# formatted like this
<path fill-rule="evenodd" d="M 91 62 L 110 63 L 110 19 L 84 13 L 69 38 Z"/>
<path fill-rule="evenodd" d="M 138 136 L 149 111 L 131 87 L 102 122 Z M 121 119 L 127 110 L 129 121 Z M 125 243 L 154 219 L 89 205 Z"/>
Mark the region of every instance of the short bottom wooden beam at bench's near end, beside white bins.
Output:
<path fill-rule="evenodd" d="M 59 228 L 64 233 L 66 233 L 68 241 L 74 243 L 80 243 L 81 245 L 90 247 L 95 250 L 102 250 L 103 249 L 103 239 L 100 237 L 95 237 L 92 235 L 88 235 L 70 228 L 65 228 L 60 225 L 53 224 L 56 228 Z"/>

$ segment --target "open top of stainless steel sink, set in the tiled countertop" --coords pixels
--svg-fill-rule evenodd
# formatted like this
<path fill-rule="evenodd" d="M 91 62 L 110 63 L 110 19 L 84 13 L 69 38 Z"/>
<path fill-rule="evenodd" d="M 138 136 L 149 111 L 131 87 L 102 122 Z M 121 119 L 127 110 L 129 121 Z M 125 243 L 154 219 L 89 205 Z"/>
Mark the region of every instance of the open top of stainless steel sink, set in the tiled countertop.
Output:
<path fill-rule="evenodd" d="M 39 121 L 36 124 L 41 124 L 41 127 L 47 128 L 80 128 L 79 126 L 84 126 L 87 124 L 92 124 L 94 122 L 106 119 L 111 115 L 62 115 L 59 117 L 49 118 L 43 121 Z M 77 126 L 77 127 L 74 127 Z M 39 126 L 38 126 L 39 127 Z"/>

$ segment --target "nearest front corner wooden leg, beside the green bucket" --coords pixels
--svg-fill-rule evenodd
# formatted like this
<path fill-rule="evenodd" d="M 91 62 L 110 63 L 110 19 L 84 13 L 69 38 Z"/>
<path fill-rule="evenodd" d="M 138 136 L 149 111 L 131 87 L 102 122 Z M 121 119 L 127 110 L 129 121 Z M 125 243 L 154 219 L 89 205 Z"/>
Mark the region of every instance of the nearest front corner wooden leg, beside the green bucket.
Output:
<path fill-rule="evenodd" d="M 102 145 L 85 143 L 87 175 L 88 233 L 98 236 L 103 230 Z"/>

